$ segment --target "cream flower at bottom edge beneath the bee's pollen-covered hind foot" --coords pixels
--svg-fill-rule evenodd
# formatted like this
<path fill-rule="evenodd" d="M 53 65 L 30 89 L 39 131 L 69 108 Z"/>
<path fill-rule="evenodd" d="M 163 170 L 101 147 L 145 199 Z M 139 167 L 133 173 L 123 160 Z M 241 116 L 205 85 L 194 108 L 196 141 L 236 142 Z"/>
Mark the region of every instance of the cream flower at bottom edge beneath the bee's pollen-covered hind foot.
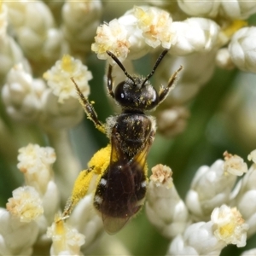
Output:
<path fill-rule="evenodd" d="M 80 255 L 80 247 L 85 237 L 65 223 L 60 217 L 47 230 L 47 236 L 53 241 L 50 255 Z"/>

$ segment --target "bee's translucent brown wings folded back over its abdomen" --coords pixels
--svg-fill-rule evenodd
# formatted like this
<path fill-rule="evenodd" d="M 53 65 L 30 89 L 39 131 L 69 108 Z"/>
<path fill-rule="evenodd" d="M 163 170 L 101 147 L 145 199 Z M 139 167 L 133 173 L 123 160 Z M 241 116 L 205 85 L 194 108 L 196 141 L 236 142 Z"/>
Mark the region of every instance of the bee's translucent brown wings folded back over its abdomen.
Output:
<path fill-rule="evenodd" d="M 108 209 L 107 213 L 102 211 L 102 220 L 110 235 L 121 230 L 142 207 L 146 193 L 145 166 L 150 146 L 151 143 L 146 143 L 145 147 L 128 160 L 120 147 L 119 139 L 112 137 L 107 179 L 109 186 L 113 184 L 115 189 L 108 189 L 106 193 L 112 193 L 114 201 L 109 202 L 111 195 L 108 195 L 108 200 L 102 201 L 102 209 Z"/>

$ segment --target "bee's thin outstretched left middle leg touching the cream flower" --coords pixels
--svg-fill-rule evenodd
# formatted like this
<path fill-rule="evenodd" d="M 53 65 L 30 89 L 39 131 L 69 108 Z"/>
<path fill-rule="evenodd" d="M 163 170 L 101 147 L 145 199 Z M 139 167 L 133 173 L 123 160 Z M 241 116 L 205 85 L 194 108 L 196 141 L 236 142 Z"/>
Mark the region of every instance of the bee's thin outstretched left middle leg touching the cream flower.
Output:
<path fill-rule="evenodd" d="M 96 129 L 102 131 L 102 133 L 106 133 L 105 125 L 103 125 L 102 122 L 98 119 L 98 116 L 92 104 L 88 101 L 87 98 L 84 97 L 82 91 L 79 89 L 79 85 L 75 82 L 75 80 L 73 78 L 71 78 L 71 80 L 73 81 L 73 84 L 75 85 L 76 90 L 78 91 L 79 102 L 84 108 L 84 112 L 87 114 L 87 118 L 94 123 Z"/>

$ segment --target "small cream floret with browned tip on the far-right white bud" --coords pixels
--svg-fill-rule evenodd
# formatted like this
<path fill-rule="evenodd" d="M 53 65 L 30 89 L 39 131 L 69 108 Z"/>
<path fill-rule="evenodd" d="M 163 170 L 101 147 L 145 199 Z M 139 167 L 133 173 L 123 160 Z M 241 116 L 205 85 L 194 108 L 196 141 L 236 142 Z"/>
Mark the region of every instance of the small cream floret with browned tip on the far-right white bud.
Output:
<path fill-rule="evenodd" d="M 236 176 L 241 176 L 247 172 L 247 163 L 240 156 L 236 154 L 232 155 L 225 151 L 224 160 L 224 172 Z"/>

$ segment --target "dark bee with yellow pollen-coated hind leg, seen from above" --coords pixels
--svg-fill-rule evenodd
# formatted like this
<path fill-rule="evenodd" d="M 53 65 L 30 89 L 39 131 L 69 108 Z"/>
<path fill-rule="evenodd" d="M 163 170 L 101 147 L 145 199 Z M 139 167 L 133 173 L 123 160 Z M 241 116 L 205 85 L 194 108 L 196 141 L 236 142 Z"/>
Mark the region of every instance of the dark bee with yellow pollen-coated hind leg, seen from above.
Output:
<path fill-rule="evenodd" d="M 97 180 L 93 205 L 102 214 L 103 225 L 108 234 L 112 235 L 121 230 L 143 206 L 148 184 L 147 156 L 156 132 L 154 117 L 145 112 L 153 110 L 166 99 L 177 79 L 177 73 L 183 68 L 181 66 L 173 73 L 166 87 L 161 87 L 159 92 L 154 89 L 149 79 L 167 51 L 165 49 L 160 54 L 146 78 L 127 73 L 119 59 L 107 51 L 125 73 L 126 79 L 113 90 L 113 66 L 108 66 L 108 94 L 119 104 L 122 111 L 109 117 L 106 124 L 102 124 L 97 118 L 92 104 L 72 78 L 79 102 L 88 119 L 107 135 L 110 143 L 96 152 L 87 170 L 80 172 L 73 194 L 64 209 L 63 218 L 68 218 L 73 207 L 86 195 L 94 174 L 97 174 Z"/>

